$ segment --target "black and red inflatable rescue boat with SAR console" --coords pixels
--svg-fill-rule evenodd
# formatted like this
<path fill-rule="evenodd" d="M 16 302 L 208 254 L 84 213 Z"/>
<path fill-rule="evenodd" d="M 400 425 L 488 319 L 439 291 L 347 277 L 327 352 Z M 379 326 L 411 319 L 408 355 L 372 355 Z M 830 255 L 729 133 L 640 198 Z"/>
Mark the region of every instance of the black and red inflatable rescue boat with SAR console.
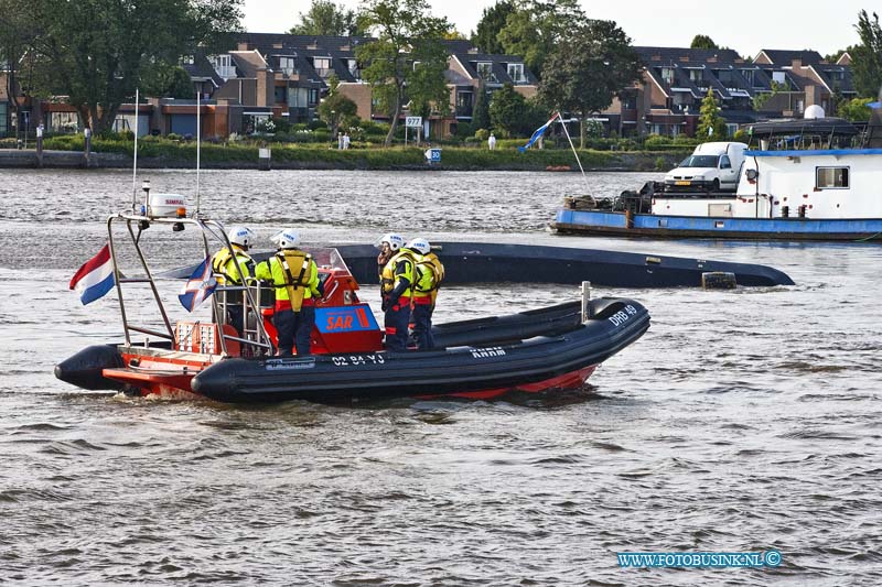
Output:
<path fill-rule="evenodd" d="M 107 221 L 125 340 L 90 346 L 55 367 L 55 376 L 88 390 L 204 396 L 224 402 L 306 400 L 336 403 L 399 396 L 490 399 L 510 391 L 541 392 L 584 384 L 596 367 L 638 339 L 649 314 L 626 298 L 583 298 L 502 317 L 460 320 L 433 328 L 435 350 L 384 350 L 383 331 L 358 283 L 336 249 L 312 249 L 324 296 L 316 302 L 312 354 L 278 357 L 271 287 L 259 282 L 217 285 L 207 297 L 211 318 L 172 325 L 160 285 L 143 251 L 150 227 L 195 228 L 206 258 L 232 247 L 219 222 L 147 206 Z M 121 230 L 125 227 L 125 230 Z M 153 230 L 155 232 L 155 230 Z M 120 267 L 121 240 L 138 262 Z M 147 233 L 149 235 L 149 233 Z M 205 283 L 203 283 L 205 285 Z M 130 287 L 155 305 L 152 322 L 127 313 Z M 144 287 L 146 286 L 146 287 Z M 246 316 L 243 331 L 226 323 L 233 293 Z M 139 309 L 144 309 L 140 300 Z M 207 312 L 205 312 L 207 314 Z M 142 338 L 136 340 L 138 336 Z"/>

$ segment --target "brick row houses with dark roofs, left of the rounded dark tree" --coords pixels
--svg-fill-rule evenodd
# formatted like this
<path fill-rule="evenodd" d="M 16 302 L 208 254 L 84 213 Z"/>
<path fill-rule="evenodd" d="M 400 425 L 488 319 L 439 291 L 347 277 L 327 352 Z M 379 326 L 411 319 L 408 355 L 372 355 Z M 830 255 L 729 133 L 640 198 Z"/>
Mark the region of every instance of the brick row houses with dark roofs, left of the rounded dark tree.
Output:
<path fill-rule="evenodd" d="M 115 129 L 194 137 L 200 124 L 204 138 L 249 133 L 271 119 L 308 122 L 318 118 L 316 108 L 327 94 L 331 76 L 340 91 L 352 99 L 363 120 L 388 121 L 377 109 L 372 87 L 362 78 L 356 50 L 370 37 L 312 36 L 241 33 L 235 48 L 217 55 L 194 54 L 182 61 L 194 88 L 191 99 L 148 98 L 135 108 L 122 105 Z M 461 122 L 470 122 L 478 91 L 492 95 L 504 84 L 531 97 L 537 91 L 535 75 L 524 59 L 512 55 L 478 53 L 469 41 L 443 41 L 449 53 L 445 80 L 450 89 L 449 113 L 432 113 L 424 122 L 424 135 L 445 137 Z M 65 100 L 42 105 L 53 132 L 83 129 L 76 110 Z M 9 123 L 9 100 L 0 95 L 0 120 Z M 407 107 L 402 118 L 408 115 Z M 43 112 L 40 112 L 42 119 Z M 0 128 L 0 133 L 2 133 Z"/>

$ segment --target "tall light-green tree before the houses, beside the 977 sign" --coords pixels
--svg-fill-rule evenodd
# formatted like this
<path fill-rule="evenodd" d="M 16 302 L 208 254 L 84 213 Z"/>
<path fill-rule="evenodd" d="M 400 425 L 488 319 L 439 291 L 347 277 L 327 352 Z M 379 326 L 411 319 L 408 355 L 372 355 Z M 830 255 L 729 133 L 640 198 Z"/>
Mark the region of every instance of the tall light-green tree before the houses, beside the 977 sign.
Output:
<path fill-rule="evenodd" d="M 433 105 L 447 112 L 450 91 L 444 79 L 448 52 L 441 39 L 451 29 L 429 13 L 427 0 L 365 0 L 359 13 L 376 41 L 358 45 L 356 58 L 367 64 L 362 77 L 379 107 L 389 113 L 389 146 L 407 98 L 417 108 Z"/>

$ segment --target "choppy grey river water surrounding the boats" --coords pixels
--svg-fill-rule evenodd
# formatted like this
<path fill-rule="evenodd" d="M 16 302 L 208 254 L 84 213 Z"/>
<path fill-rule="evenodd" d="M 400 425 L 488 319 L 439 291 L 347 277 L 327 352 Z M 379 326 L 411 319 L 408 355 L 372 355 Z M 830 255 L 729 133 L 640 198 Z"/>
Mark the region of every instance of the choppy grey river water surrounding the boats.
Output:
<path fill-rule="evenodd" d="M 193 172 L 142 177 L 195 192 Z M 203 173 L 202 208 L 243 220 L 263 248 L 287 225 L 315 246 L 391 228 L 759 262 L 796 282 L 598 290 L 645 304 L 653 326 L 562 399 L 248 407 L 55 380 L 55 362 L 120 338 L 115 294 L 84 307 L 67 282 L 101 246 L 106 216 L 131 202 L 131 174 L 0 171 L 0 581 L 882 584 L 882 247 L 545 230 L 564 194 L 649 178 Z M 153 237 L 160 267 L 198 260 L 172 237 Z M 437 322 L 577 295 L 448 287 Z M 767 550 L 781 566 L 630 569 L 615 555 Z"/>

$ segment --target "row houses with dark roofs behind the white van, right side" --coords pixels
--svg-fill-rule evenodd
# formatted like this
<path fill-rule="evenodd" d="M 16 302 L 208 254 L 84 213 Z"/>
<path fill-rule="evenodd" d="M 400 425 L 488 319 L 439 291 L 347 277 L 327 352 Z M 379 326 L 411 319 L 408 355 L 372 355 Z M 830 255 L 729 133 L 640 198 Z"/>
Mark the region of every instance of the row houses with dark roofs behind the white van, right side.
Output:
<path fill-rule="evenodd" d="M 761 119 L 800 117 L 811 105 L 833 116 L 836 98 L 856 96 L 847 56 L 827 63 L 815 51 L 763 50 L 753 61 L 731 50 L 635 47 L 643 79 L 604 112 L 623 135 L 693 135 L 711 90 L 730 132 Z M 754 108 L 755 98 L 761 104 Z"/>

